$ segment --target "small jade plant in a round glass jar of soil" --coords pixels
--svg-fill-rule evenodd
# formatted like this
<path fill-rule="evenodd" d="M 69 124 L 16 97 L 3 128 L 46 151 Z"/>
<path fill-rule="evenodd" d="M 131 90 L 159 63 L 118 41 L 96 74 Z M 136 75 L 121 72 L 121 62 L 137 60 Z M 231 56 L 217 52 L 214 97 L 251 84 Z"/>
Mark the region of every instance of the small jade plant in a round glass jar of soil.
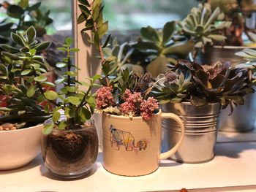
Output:
<path fill-rule="evenodd" d="M 56 80 L 56 84 L 62 83 L 61 90 L 58 93 L 42 92 L 42 99 L 54 107 L 53 118 L 44 123 L 42 158 L 50 172 L 67 178 L 80 177 L 89 172 L 98 153 L 97 131 L 94 120 L 91 120 L 95 107 L 91 88 L 97 87 L 94 82 L 100 75 L 88 78 L 89 82 L 75 80 L 78 68 L 72 65 L 72 53 L 78 49 L 71 45 L 72 39 L 67 38 L 63 47 L 59 47 L 67 54 L 61 63 L 56 64 L 67 69 Z M 85 85 L 87 90 L 78 90 L 78 85 Z M 59 101 L 54 101 L 56 99 Z"/>

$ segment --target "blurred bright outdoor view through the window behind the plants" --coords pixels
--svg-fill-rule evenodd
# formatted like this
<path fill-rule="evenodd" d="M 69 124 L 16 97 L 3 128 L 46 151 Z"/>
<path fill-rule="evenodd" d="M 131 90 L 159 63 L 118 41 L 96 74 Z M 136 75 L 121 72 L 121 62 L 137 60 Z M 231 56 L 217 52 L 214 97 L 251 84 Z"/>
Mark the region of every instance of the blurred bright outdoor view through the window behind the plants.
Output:
<path fill-rule="evenodd" d="M 3 3 L 0 0 L 0 3 Z M 20 0 L 9 0 L 10 4 L 18 4 Z M 29 0 L 35 4 L 39 0 Z M 53 23 L 47 26 L 47 34 L 57 31 L 71 31 L 72 6 L 70 0 L 42 0 L 40 9 L 46 12 L 50 9 Z M 183 19 L 197 5 L 193 0 L 105 0 L 105 20 L 109 20 L 110 31 L 135 30 L 143 26 L 162 28 L 170 20 Z M 0 22 L 7 18 L 6 9 L 0 8 Z"/>

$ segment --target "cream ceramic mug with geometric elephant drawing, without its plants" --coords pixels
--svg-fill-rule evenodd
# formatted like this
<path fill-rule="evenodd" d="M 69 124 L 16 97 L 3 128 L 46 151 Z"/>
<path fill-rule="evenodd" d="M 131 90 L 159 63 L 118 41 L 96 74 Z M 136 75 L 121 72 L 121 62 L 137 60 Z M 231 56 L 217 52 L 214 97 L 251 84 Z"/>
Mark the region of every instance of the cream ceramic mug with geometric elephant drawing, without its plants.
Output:
<path fill-rule="evenodd" d="M 166 153 L 161 153 L 161 120 L 176 120 L 181 137 Z M 102 164 L 108 172 L 124 176 L 150 174 L 159 167 L 159 160 L 176 153 L 184 139 L 184 125 L 177 115 L 162 113 L 150 120 L 141 117 L 124 117 L 103 113 Z"/>

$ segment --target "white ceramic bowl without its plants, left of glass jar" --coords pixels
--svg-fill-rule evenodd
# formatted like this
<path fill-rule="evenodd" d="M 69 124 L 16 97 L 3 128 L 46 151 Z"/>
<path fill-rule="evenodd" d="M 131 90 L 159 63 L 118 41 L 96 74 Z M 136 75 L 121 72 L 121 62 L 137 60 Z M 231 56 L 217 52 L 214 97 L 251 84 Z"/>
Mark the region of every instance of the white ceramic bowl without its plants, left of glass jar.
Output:
<path fill-rule="evenodd" d="M 42 124 L 12 131 L 0 131 L 0 170 L 29 164 L 41 151 Z"/>

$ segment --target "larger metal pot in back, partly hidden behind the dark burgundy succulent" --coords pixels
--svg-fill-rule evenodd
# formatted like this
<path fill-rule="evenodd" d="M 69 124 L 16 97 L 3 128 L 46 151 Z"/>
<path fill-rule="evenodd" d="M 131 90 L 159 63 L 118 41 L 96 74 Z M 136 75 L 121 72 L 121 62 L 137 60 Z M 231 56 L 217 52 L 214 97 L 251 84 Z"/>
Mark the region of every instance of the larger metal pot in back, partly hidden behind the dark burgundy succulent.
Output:
<path fill-rule="evenodd" d="M 231 66 L 243 63 L 243 58 L 235 55 L 238 51 L 248 47 L 241 46 L 214 46 L 206 49 L 203 64 L 214 64 L 217 61 L 230 61 Z M 207 61 L 206 61 L 207 59 Z M 234 109 L 230 115 L 230 109 L 223 110 L 219 123 L 219 131 L 246 132 L 255 128 L 256 93 L 249 94 L 244 98 L 244 105 Z"/>

